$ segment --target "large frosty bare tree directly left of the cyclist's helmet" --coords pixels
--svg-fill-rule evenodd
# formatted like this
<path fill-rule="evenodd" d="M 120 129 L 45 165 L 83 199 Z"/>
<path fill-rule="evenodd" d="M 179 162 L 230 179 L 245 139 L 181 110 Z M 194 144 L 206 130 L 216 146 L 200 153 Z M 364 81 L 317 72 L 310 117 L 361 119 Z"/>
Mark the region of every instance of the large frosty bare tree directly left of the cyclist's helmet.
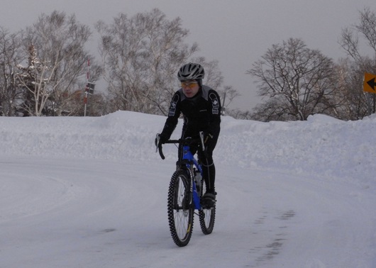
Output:
<path fill-rule="evenodd" d="M 188 30 L 158 9 L 128 18 L 121 13 L 111 25 L 99 21 L 99 50 L 104 79 L 117 108 L 165 114 L 177 85 L 176 72 L 197 44 L 183 43 Z"/>

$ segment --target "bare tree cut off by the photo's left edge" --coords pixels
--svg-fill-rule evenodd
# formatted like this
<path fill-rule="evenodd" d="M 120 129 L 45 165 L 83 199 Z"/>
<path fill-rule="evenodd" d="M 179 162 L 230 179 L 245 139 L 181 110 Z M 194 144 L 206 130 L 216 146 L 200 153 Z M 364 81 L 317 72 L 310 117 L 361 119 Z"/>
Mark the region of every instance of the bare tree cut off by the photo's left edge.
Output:
<path fill-rule="evenodd" d="M 20 60 L 20 38 L 0 27 L 0 114 L 14 116 L 21 90 L 16 83 L 15 69 Z"/>

